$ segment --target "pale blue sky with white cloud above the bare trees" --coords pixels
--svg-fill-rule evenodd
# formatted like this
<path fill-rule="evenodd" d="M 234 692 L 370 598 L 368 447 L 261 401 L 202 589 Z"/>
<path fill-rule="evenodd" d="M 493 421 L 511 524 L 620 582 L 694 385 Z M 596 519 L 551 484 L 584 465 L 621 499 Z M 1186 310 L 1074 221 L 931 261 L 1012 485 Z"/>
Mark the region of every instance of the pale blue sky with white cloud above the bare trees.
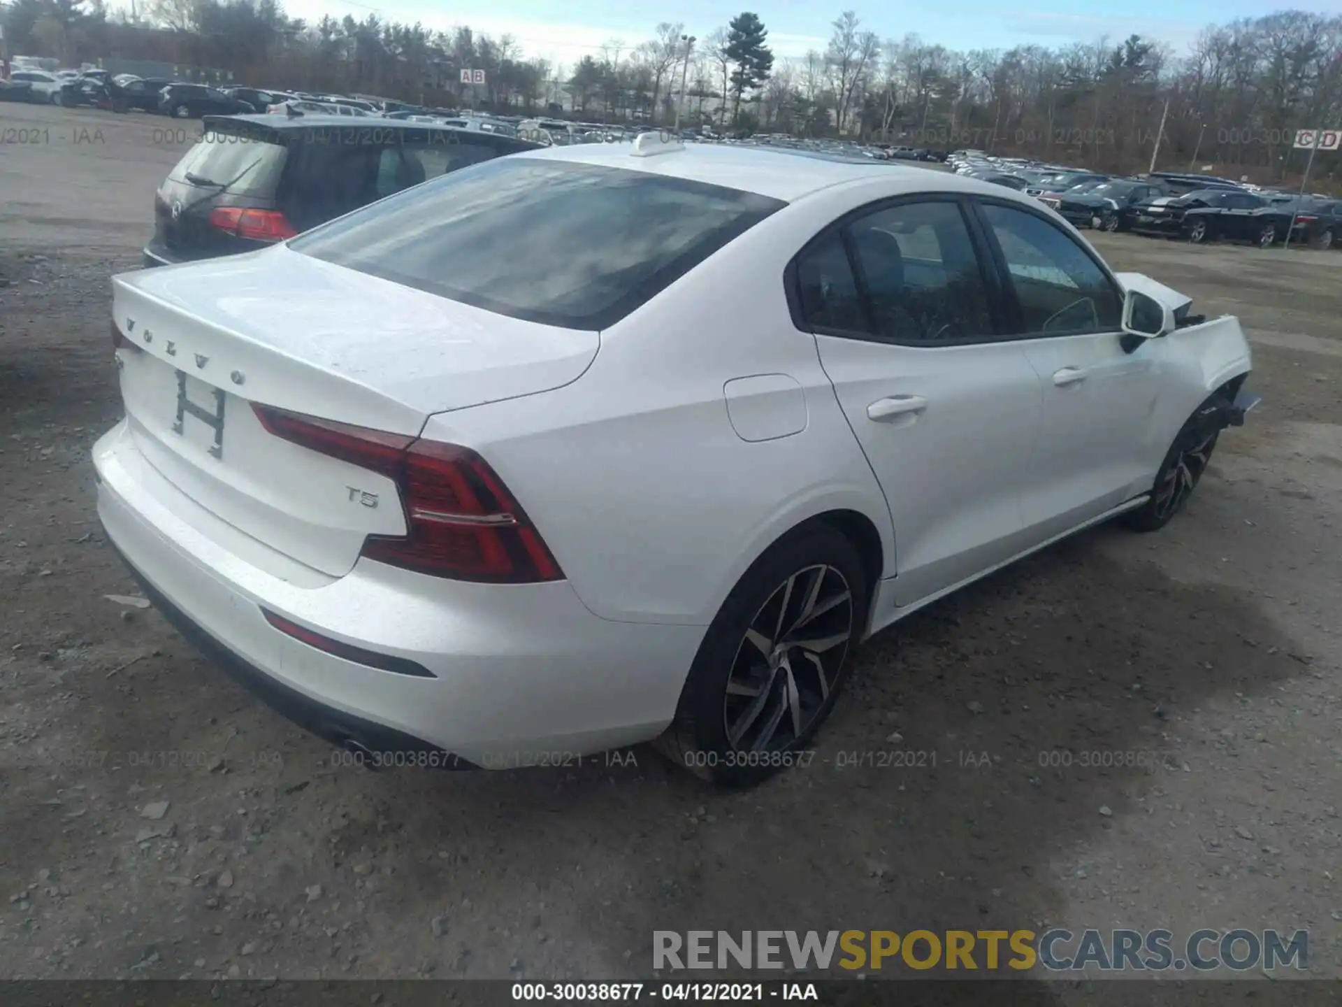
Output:
<path fill-rule="evenodd" d="M 444 4 L 442 0 L 285 0 L 290 16 L 319 19 L 323 13 L 362 19 L 370 12 L 401 21 L 423 21 L 446 30 L 458 24 L 488 35 L 511 34 L 527 56 L 544 56 L 572 66 L 585 54 L 596 55 L 605 40 L 625 46 L 646 40 L 658 21 L 682 21 L 705 36 L 742 9 L 760 15 L 769 42 L 780 56 L 823 50 L 831 21 L 851 4 L 864 28 L 882 38 L 918 32 L 947 48 L 1008 48 L 1036 43 L 1064 46 L 1108 35 L 1115 42 L 1133 32 L 1172 44 L 1180 55 L 1213 23 L 1260 16 L 1294 7 L 1323 13 L 1342 12 L 1342 0 L 941 0 L 935 4 L 891 4 L 888 0 L 770 0 L 742 7 L 717 0 L 491 0 L 486 4 Z"/>

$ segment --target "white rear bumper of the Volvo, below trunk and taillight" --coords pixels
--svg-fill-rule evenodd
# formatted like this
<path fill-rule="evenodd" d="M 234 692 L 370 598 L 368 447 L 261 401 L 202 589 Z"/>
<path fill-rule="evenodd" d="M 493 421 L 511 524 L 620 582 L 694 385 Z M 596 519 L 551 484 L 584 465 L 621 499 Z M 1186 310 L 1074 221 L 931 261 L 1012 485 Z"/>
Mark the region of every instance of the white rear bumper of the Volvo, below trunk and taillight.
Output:
<path fill-rule="evenodd" d="M 125 422 L 93 457 L 98 516 L 148 596 L 266 702 L 337 744 L 509 768 L 646 741 L 670 724 L 705 632 L 600 619 L 565 581 L 464 584 L 362 560 L 344 577 L 286 580 L 227 548 L 236 529 L 158 475 Z M 317 650 L 262 607 L 433 677 Z"/>

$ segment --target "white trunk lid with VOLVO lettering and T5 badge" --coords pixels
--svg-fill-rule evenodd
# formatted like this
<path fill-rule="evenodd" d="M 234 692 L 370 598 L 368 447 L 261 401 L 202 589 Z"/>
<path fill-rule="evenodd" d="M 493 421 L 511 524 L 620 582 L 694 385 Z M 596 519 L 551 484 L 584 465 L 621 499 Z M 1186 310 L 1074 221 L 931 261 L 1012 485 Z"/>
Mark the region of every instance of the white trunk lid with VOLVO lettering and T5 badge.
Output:
<path fill-rule="evenodd" d="M 413 436 L 582 375 L 595 332 L 494 314 L 279 246 L 113 278 L 137 447 L 234 528 L 331 576 L 403 534 L 395 483 L 267 432 L 252 403 Z M 219 418 L 223 418 L 221 423 Z M 376 498 L 369 504 L 369 495 Z"/>

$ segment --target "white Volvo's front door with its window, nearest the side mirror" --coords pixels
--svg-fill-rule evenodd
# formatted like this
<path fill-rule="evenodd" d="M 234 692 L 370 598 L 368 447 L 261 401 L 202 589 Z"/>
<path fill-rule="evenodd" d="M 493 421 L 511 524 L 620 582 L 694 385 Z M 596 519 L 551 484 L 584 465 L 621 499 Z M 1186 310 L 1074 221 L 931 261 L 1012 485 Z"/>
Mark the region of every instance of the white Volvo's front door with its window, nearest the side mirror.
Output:
<path fill-rule="evenodd" d="M 1159 393 L 1158 348 L 1122 345 L 1123 291 L 1044 212 L 980 199 L 1005 273 L 1011 332 L 1043 396 L 1021 514 L 1043 541 L 1150 489 L 1142 450 Z"/>

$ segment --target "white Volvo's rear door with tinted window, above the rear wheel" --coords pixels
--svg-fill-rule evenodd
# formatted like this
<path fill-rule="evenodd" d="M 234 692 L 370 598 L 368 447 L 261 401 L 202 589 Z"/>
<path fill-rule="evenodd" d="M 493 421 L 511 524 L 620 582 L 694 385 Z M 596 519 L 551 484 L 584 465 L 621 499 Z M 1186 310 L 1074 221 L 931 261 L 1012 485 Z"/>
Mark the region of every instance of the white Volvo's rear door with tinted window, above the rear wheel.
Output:
<path fill-rule="evenodd" d="M 953 197 L 892 200 L 797 259 L 805 325 L 890 505 L 899 607 L 1021 549 L 1039 379 L 994 334 L 966 212 Z"/>

